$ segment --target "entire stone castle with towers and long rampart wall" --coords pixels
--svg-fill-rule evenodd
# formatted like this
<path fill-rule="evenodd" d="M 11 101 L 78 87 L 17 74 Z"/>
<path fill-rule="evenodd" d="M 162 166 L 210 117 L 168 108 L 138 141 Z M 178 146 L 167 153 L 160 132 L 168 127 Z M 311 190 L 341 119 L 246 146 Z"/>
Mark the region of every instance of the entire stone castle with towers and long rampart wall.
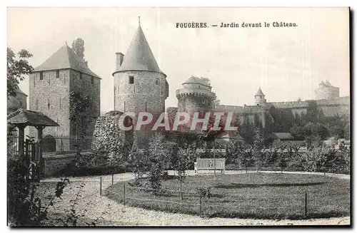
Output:
<path fill-rule="evenodd" d="M 159 115 L 165 112 L 165 100 L 169 96 L 169 83 L 161 71 L 144 32 L 139 28 L 126 51 L 116 53 L 114 76 L 114 110 L 126 112 L 149 112 Z M 74 51 L 64 45 L 39 67 L 35 68 L 29 82 L 29 109 L 48 115 L 59 123 L 58 128 L 45 128 L 44 135 L 75 135 L 75 124 L 69 120 L 69 96 L 71 91 L 90 95 L 91 107 L 86 120 L 85 135 L 92 135 L 96 119 L 100 115 L 101 78 L 84 66 L 76 58 Z M 328 81 L 321 82 L 316 89 L 316 100 L 267 102 L 261 88 L 254 95 L 255 105 L 215 105 L 216 94 L 212 87 L 201 78 L 191 77 L 176 90 L 178 106 L 169 110 L 224 111 L 233 112 L 244 122 L 253 120 L 256 115 L 262 123 L 264 113 L 274 106 L 290 109 L 294 115 L 306 113 L 309 103 L 316 103 L 324 115 L 350 113 L 350 97 L 339 97 L 339 88 Z"/>

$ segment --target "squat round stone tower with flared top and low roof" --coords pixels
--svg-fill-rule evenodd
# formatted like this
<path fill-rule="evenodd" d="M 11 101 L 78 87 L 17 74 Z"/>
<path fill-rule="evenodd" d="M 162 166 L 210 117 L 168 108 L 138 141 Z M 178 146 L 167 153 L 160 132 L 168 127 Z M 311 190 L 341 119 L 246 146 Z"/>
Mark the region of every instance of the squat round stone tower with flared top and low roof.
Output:
<path fill-rule="evenodd" d="M 212 87 L 202 78 L 191 77 L 184 83 L 183 88 L 176 90 L 178 112 L 194 113 L 209 112 L 213 108 L 216 94 Z"/>

